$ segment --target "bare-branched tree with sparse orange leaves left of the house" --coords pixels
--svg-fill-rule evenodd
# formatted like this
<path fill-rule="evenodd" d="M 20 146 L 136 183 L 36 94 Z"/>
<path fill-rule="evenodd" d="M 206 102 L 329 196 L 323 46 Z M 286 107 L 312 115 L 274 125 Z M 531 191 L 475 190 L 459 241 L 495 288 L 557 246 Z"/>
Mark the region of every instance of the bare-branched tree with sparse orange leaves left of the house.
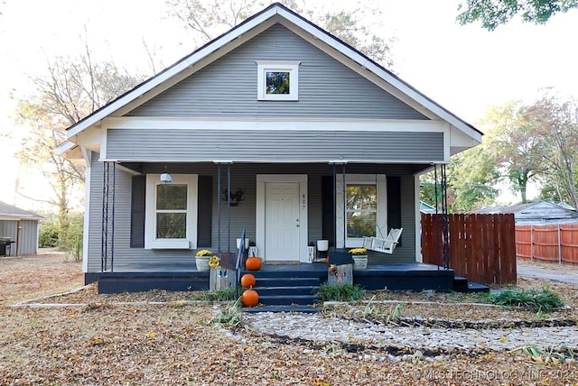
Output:
<path fill-rule="evenodd" d="M 142 78 L 130 76 L 113 62 L 93 60 L 87 44 L 78 57 L 57 58 L 47 68 L 45 78 L 32 79 L 35 93 L 19 101 L 18 120 L 29 127 L 30 133 L 16 156 L 24 166 L 41 170 L 52 188 L 51 198 L 43 200 L 58 208 L 59 220 L 66 224 L 70 192 L 84 184 L 85 167 L 54 154 L 56 146 L 64 142 L 67 127 L 134 87 Z"/>

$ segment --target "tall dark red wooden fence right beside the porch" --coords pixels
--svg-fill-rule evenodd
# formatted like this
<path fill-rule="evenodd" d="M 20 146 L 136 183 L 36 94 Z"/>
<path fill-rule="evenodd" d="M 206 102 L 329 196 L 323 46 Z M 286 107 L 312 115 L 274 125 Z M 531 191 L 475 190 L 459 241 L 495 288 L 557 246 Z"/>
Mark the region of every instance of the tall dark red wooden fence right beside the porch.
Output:
<path fill-rule="evenodd" d="M 448 215 L 450 268 L 482 284 L 516 282 L 514 215 Z M 422 215 L 423 261 L 443 265 L 443 216 Z"/>

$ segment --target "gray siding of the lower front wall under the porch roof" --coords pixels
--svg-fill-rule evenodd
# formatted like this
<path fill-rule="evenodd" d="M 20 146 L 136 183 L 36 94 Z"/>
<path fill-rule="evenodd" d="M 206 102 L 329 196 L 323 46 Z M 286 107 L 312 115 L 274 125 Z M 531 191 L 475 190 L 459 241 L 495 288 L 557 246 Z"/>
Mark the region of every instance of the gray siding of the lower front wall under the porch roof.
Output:
<path fill-rule="evenodd" d="M 102 219 L 102 164 L 98 162 L 98 154 L 93 154 L 93 169 L 90 181 L 90 207 L 89 216 L 89 272 L 100 271 L 101 251 L 101 219 Z M 143 172 L 163 172 L 163 165 L 150 165 L 151 169 Z M 217 251 L 220 242 L 220 250 L 236 251 L 236 238 L 240 235 L 243 227 L 247 228 L 247 237 L 255 240 L 256 232 L 256 174 L 307 174 L 309 186 L 309 241 L 322 237 L 322 207 L 321 185 L 322 176 L 332 175 L 332 167 L 329 165 L 232 165 L 231 188 L 245 188 L 246 199 L 238 207 L 231 207 L 230 216 L 230 241 L 228 239 L 228 216 L 225 205 L 221 206 L 220 233 L 217 216 L 218 189 L 217 189 L 217 166 L 212 164 L 181 164 L 172 165 L 169 170 L 172 173 L 196 173 L 213 177 L 213 221 L 212 221 L 212 246 L 210 249 Z M 402 176 L 402 223 L 404 226 L 403 245 L 396 249 L 393 256 L 379 255 L 384 261 L 415 261 L 415 218 L 414 218 L 414 178 L 404 165 L 363 166 L 352 165 L 348 167 L 348 173 L 385 173 Z M 221 188 L 227 185 L 227 168 L 222 167 Z M 121 170 L 116 172 L 115 194 L 115 271 L 123 271 L 130 268 L 138 269 L 139 266 L 151 265 L 162 267 L 163 264 L 194 264 L 193 252 L 191 251 L 168 251 L 168 250 L 144 250 L 143 248 L 130 248 L 130 187 L 131 176 Z M 110 233 L 110 230 L 109 230 Z M 219 240 L 220 234 L 220 240 Z M 110 241 L 109 241 L 110 245 Z"/>

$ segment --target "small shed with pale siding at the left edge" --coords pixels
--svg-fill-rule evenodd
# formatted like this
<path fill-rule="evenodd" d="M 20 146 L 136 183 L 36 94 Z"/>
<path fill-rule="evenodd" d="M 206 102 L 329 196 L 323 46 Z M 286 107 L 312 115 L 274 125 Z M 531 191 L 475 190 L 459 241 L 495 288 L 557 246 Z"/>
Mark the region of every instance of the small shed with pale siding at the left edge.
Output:
<path fill-rule="evenodd" d="M 38 223 L 44 217 L 0 201 L 0 255 L 38 253 Z"/>

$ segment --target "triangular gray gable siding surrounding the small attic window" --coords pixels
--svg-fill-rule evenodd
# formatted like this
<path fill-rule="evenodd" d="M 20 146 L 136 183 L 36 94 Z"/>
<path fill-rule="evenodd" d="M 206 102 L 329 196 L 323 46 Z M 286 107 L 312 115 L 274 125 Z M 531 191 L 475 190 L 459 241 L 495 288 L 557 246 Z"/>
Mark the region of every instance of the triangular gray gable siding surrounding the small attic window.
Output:
<path fill-rule="evenodd" d="M 298 60 L 299 100 L 256 100 L 256 60 Z M 276 24 L 127 115 L 427 119 Z"/>

